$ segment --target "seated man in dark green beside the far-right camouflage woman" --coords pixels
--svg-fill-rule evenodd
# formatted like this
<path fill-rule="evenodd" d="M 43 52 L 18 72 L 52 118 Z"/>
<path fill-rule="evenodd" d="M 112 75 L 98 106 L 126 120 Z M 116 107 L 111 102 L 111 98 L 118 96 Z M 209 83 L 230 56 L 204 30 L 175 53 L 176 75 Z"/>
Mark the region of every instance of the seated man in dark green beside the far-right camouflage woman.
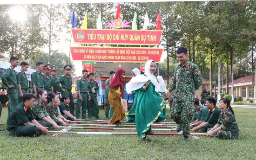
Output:
<path fill-rule="evenodd" d="M 201 132 L 207 132 L 208 128 L 213 128 L 218 122 L 221 109 L 216 107 L 216 99 L 212 96 L 206 98 L 206 108 L 210 109 L 206 119 L 198 126 L 194 127 L 193 131 L 200 130 Z"/>

